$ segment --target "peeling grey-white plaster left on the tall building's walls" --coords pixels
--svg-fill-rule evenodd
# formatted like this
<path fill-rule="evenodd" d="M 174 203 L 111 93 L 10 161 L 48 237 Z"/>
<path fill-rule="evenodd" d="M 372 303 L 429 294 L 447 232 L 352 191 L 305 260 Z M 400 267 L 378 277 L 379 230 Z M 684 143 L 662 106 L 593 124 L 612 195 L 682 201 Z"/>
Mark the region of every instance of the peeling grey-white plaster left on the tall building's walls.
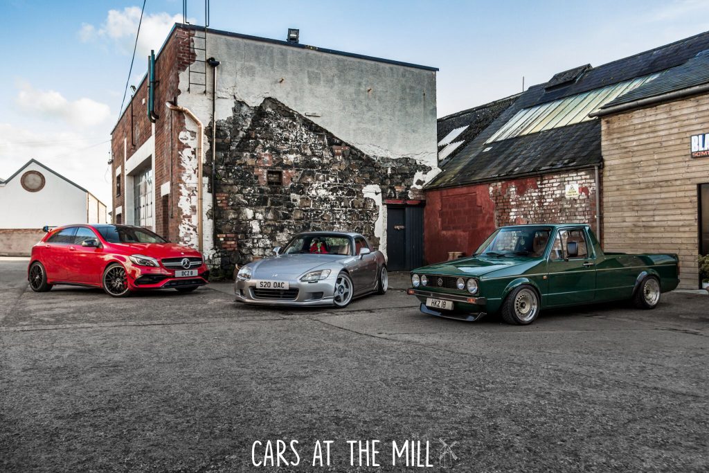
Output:
<path fill-rule="evenodd" d="M 199 39 L 193 43 L 198 48 L 204 44 Z M 383 160 L 411 160 L 418 169 L 406 189 L 410 194 L 404 192 L 404 198 L 423 195 L 420 193 L 423 184 L 440 172 L 434 71 L 217 34 L 207 35 L 206 57 L 220 61 L 216 88 L 218 122 L 233 120 L 238 104 L 256 108 L 264 99 L 274 98 L 364 155 Z M 207 127 L 212 114 L 212 77 L 211 67 L 206 70 L 206 80 L 202 80 L 206 83 L 202 87 L 190 84 L 191 77 L 194 82 L 196 76 L 191 76 L 189 69 L 180 72 L 179 104 L 189 108 Z M 189 119 L 186 130 L 196 136 L 196 125 Z M 207 161 L 211 152 L 208 138 L 205 135 L 203 148 Z M 189 143 L 183 143 L 189 148 Z M 184 151 L 185 155 L 189 152 Z M 196 181 L 186 175 L 182 180 L 183 186 Z M 207 181 L 206 173 L 204 182 Z M 371 187 L 368 194 L 376 195 Z M 208 257 L 214 257 L 209 218 L 213 213 L 212 196 L 206 192 L 203 199 L 203 247 Z M 376 222 L 380 223 L 375 224 L 373 236 L 384 246 L 386 208 L 377 199 L 373 201 L 379 207 Z M 180 231 L 182 236 L 182 228 Z"/>

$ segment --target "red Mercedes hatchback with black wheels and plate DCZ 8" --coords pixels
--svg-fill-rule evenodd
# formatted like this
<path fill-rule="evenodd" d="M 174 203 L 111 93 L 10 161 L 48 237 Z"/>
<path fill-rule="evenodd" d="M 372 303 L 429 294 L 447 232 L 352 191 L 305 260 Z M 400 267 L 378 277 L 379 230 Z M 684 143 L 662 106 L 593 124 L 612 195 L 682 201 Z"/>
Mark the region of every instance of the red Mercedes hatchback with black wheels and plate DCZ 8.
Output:
<path fill-rule="evenodd" d="M 207 284 L 209 272 L 200 252 L 145 228 L 71 225 L 51 230 L 32 247 L 27 275 L 36 292 L 76 284 L 122 297 L 140 289 L 194 291 Z"/>

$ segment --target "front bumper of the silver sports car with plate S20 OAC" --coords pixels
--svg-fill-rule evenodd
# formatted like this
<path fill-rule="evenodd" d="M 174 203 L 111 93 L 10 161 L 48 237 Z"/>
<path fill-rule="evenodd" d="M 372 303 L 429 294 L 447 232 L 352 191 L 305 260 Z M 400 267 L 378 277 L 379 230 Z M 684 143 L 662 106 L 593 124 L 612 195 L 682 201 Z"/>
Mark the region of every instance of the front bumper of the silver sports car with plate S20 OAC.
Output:
<path fill-rule="evenodd" d="M 256 296 L 255 282 L 237 279 L 234 284 L 236 300 L 246 304 L 260 304 L 264 306 L 332 306 L 335 292 L 335 278 L 330 277 L 318 282 L 301 282 L 291 280 L 288 282 L 289 291 L 297 289 L 298 294 L 293 297 L 284 294 L 284 291 L 272 290 L 269 296 Z"/>

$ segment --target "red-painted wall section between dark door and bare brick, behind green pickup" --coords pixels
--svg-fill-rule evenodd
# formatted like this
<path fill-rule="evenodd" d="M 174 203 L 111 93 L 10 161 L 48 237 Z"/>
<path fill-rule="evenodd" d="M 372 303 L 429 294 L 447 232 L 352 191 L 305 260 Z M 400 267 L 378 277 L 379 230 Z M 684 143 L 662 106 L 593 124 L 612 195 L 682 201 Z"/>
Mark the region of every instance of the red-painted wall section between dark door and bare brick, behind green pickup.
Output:
<path fill-rule="evenodd" d="M 470 255 L 495 228 L 488 184 L 426 192 L 423 257 L 427 264 L 447 260 L 450 251 Z"/>

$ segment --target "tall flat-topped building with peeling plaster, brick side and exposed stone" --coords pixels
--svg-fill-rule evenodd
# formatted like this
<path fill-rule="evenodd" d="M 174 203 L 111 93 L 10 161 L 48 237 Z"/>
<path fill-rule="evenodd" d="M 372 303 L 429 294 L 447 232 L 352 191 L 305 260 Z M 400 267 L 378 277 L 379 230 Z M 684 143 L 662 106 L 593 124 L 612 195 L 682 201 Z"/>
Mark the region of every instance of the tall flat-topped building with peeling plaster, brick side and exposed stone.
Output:
<path fill-rule="evenodd" d="M 388 216 L 420 209 L 439 171 L 436 70 L 177 24 L 154 100 L 149 74 L 112 133 L 114 220 L 227 272 L 302 230 L 359 231 L 386 252 Z"/>

